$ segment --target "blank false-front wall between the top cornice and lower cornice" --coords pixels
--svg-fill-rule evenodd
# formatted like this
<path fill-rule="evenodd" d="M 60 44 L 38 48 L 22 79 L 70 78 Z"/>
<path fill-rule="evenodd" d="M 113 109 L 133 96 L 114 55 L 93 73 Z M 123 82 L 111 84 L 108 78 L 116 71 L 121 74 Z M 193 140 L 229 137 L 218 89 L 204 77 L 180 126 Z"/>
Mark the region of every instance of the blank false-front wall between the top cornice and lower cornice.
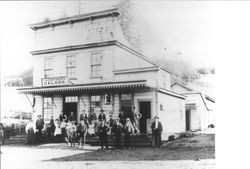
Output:
<path fill-rule="evenodd" d="M 119 30 L 115 31 L 116 22 L 116 18 L 106 17 L 38 29 L 35 31 L 34 50 L 119 40 L 121 36 Z"/>

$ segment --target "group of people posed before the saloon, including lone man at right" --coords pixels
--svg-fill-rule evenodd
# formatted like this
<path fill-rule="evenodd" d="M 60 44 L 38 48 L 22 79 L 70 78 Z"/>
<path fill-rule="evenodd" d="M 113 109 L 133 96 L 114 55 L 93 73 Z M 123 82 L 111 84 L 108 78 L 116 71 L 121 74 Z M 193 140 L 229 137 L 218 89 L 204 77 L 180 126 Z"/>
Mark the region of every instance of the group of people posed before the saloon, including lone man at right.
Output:
<path fill-rule="evenodd" d="M 86 142 L 87 134 L 97 135 L 99 136 L 102 149 L 109 147 L 108 136 L 110 135 L 115 140 L 115 147 L 121 148 L 121 135 L 124 135 L 124 148 L 129 149 L 131 148 L 131 135 L 140 133 L 139 121 L 141 117 L 142 114 L 136 112 L 135 107 L 133 107 L 133 111 L 130 113 L 119 110 L 119 115 L 116 119 L 114 115 L 111 114 L 108 121 L 103 109 L 100 110 L 98 117 L 93 108 L 88 115 L 85 110 L 82 110 L 78 124 L 76 123 L 76 117 L 74 117 L 73 112 L 67 117 L 62 111 L 55 121 L 52 116 L 50 122 L 46 125 L 41 115 L 38 115 L 38 119 L 35 123 L 35 131 L 34 126 L 30 125 L 31 123 L 26 126 L 28 144 L 34 142 L 32 137 L 34 133 L 37 141 L 40 142 L 44 132 L 48 140 L 51 140 L 53 136 L 57 140 L 63 137 L 66 145 L 71 144 L 72 146 L 73 144 L 75 146 L 75 142 L 78 142 L 78 146 L 81 148 Z M 161 145 L 162 125 L 157 116 L 154 119 L 155 121 L 151 125 L 153 134 L 152 144 L 155 147 L 159 147 Z"/>

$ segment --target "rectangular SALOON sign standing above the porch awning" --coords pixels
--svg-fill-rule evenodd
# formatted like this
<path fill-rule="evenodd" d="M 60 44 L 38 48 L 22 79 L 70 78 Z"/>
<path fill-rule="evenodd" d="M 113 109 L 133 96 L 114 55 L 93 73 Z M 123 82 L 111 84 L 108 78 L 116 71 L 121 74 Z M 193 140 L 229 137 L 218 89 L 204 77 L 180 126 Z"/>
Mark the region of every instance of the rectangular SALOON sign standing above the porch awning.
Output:
<path fill-rule="evenodd" d="M 42 79 L 42 86 L 61 86 L 67 84 L 68 84 L 68 78 L 65 76 Z"/>

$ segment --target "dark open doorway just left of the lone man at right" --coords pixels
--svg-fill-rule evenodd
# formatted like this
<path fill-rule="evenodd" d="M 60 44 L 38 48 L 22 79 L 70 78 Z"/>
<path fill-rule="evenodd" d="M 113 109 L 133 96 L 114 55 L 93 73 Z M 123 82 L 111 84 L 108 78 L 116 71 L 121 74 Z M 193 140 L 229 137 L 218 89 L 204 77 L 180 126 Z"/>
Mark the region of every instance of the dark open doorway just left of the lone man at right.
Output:
<path fill-rule="evenodd" d="M 140 119 L 140 132 L 142 134 L 147 133 L 147 119 L 151 118 L 151 102 L 150 101 L 140 101 L 139 102 L 139 112 L 142 114 Z"/>

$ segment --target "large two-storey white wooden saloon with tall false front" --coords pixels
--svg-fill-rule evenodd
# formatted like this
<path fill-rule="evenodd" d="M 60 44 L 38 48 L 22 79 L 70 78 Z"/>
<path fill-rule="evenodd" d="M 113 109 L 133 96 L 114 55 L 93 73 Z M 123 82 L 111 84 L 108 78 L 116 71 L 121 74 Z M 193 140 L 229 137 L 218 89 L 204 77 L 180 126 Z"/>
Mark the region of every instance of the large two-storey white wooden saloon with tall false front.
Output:
<path fill-rule="evenodd" d="M 135 106 L 142 133 L 151 132 L 155 115 L 164 133 L 185 131 L 186 96 L 171 90 L 167 69 L 129 47 L 118 16 L 110 9 L 30 25 L 33 87 L 19 92 L 35 98 L 34 116 L 45 121 L 62 110 L 79 121 L 83 109 L 118 116 L 119 109 L 131 112 Z"/>

